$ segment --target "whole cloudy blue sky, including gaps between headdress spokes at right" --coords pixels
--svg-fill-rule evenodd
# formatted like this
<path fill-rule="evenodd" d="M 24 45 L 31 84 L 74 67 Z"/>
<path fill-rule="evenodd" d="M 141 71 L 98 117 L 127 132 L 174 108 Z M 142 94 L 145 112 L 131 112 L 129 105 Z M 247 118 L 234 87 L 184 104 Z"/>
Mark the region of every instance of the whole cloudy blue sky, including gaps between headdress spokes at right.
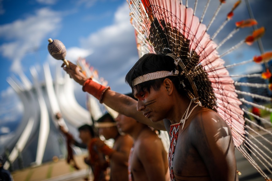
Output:
<path fill-rule="evenodd" d="M 191 1 L 192 2 L 192 1 Z M 197 16 L 200 16 L 204 1 L 199 1 Z M 207 20 L 218 5 L 212 0 L 207 13 Z M 225 19 L 235 0 L 229 0 L 222 8 L 221 14 L 210 28 L 213 32 Z M 258 27 L 266 27 L 266 35 L 262 38 L 266 51 L 271 51 L 271 1 L 249 0 Z M 15 6 L 16 4 L 16 6 Z M 193 7 L 192 4 L 189 4 Z M 237 8 L 234 20 L 223 29 L 217 39 L 220 42 L 224 36 L 233 30 L 234 22 L 248 19 L 245 2 Z M 129 9 L 126 0 L 0 0 L 0 135 L 14 130 L 14 121 L 20 120 L 23 106 L 9 86 L 7 77 L 17 77 L 24 74 L 30 79 L 29 68 L 35 66 L 39 71 L 45 62 L 50 64 L 52 71 L 60 67 L 61 61 L 54 60 L 47 51 L 47 39 L 61 40 L 67 49 L 66 59 L 76 61 L 77 57 L 86 57 L 109 82 L 112 90 L 127 93 L 130 91 L 124 82 L 128 70 L 138 60 L 134 29 L 130 24 Z M 204 19 L 203 23 L 207 23 Z M 235 45 L 252 28 L 239 31 L 231 41 L 219 50 L 223 53 L 227 47 Z M 216 40 L 217 40 L 216 39 Z M 255 43 L 253 46 L 242 46 L 239 51 L 223 59 L 227 64 L 251 59 L 259 54 Z M 230 70 L 232 74 L 260 71 L 260 66 L 247 66 Z M 42 80 L 41 76 L 41 80 Z M 77 97 L 84 101 L 85 96 L 77 87 Z"/>

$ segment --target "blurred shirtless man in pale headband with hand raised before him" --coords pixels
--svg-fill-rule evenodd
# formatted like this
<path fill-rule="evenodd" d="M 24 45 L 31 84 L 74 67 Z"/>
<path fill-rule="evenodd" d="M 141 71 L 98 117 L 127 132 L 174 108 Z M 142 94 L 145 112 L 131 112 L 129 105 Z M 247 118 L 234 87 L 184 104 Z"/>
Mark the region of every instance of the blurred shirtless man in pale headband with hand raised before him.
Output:
<path fill-rule="evenodd" d="M 128 181 L 128 156 L 133 145 L 133 139 L 127 135 L 120 135 L 116 127 L 116 122 L 109 113 L 97 120 L 96 127 L 99 135 L 103 135 L 106 140 L 114 139 L 114 145 L 109 148 L 100 139 L 95 142 L 100 151 L 108 155 L 111 159 L 111 181 Z M 111 151 L 112 150 L 112 151 Z"/>

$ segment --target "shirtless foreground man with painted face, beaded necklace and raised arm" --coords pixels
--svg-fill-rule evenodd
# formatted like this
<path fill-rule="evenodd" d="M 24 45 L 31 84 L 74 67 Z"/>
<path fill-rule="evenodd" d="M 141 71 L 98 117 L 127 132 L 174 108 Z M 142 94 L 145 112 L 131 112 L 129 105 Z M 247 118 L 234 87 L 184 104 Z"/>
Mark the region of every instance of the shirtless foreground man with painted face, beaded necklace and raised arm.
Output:
<path fill-rule="evenodd" d="M 76 65 L 71 64 L 70 69 L 64 70 L 83 85 L 84 91 L 117 112 L 155 129 L 168 131 L 172 137 L 168 155 L 172 180 L 238 180 L 231 131 L 216 112 L 197 106 L 184 91 L 178 91 L 180 80 L 174 80 L 175 76 L 154 78 L 133 85 L 138 76 L 158 71 L 175 71 L 175 64 L 169 64 L 171 61 L 173 59 L 165 55 L 146 54 L 130 70 L 126 81 L 138 103 L 86 78 Z M 184 124 L 176 127 L 182 119 L 185 120 Z"/>

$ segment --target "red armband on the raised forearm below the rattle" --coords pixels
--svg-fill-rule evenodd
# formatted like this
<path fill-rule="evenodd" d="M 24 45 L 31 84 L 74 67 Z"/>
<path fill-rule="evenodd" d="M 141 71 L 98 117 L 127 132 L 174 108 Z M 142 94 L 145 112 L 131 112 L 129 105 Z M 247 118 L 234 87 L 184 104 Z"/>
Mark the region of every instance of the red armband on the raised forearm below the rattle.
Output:
<path fill-rule="evenodd" d="M 111 89 L 110 87 L 102 86 L 99 83 L 94 82 L 92 79 L 88 79 L 83 84 L 82 90 L 92 94 L 95 98 L 102 103 L 103 94 L 106 90 Z"/>

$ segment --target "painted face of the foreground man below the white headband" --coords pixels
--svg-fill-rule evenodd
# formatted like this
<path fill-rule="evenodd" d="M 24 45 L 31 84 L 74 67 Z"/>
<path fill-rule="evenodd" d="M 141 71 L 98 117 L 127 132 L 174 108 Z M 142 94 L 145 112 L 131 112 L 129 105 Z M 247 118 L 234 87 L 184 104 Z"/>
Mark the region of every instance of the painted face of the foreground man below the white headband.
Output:
<path fill-rule="evenodd" d="M 152 122 L 160 121 L 168 115 L 168 96 L 163 85 L 159 90 L 154 90 L 153 87 L 148 91 L 138 92 L 133 88 L 134 97 L 138 99 L 137 110 L 142 111 L 146 118 Z"/>

